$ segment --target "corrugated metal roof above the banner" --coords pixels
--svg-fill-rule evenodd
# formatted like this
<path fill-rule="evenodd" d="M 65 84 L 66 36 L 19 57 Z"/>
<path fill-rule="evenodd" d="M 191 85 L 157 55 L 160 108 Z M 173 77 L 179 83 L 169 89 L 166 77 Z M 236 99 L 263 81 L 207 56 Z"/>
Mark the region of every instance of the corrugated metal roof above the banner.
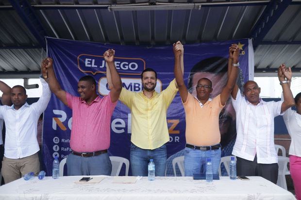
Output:
<path fill-rule="evenodd" d="M 113 8 L 126 4 L 134 7 L 148 2 L 31 0 L 33 16 L 26 21 L 16 7 L 10 6 L 9 0 L 0 0 L 0 71 L 39 71 L 41 54 L 45 55 L 45 51 L 36 37 L 36 33 L 41 34 L 41 30 L 31 29 L 31 22 L 41 24 L 42 32 L 45 32 L 43 36 L 55 38 L 122 45 L 171 44 L 178 40 L 191 44 L 251 37 L 253 29 L 262 21 L 260 17 L 267 15 L 265 9 L 272 1 L 156 0 L 157 4 L 202 4 L 200 10 L 108 9 L 111 3 Z M 268 13 L 269 17 L 272 17 L 271 13 Z M 290 2 L 284 12 L 276 14 L 279 18 L 270 29 L 267 30 L 264 27 L 266 25 L 261 27 L 267 32 L 254 52 L 255 71 L 274 71 L 282 62 L 299 71 L 301 1 Z"/>

